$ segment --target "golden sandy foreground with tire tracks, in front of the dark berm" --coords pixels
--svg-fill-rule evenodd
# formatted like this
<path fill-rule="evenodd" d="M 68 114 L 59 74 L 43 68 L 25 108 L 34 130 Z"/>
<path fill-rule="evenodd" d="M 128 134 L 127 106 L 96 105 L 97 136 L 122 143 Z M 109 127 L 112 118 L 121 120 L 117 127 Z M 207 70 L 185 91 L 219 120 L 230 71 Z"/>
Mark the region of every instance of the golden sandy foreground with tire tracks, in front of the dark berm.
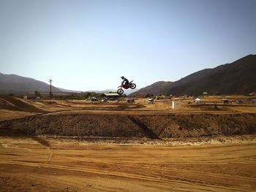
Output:
<path fill-rule="evenodd" d="M 256 138 L 0 137 L 0 172 L 0 191 L 256 191 Z"/>

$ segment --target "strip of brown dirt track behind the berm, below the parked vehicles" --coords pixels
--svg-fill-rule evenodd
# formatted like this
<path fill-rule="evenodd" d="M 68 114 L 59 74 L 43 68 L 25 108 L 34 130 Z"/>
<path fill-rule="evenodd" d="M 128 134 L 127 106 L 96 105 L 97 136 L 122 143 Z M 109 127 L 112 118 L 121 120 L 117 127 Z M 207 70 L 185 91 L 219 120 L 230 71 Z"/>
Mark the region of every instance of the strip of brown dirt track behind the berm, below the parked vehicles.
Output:
<path fill-rule="evenodd" d="M 256 113 L 253 97 L 225 96 L 232 104 L 223 104 L 223 96 L 204 96 L 201 104 L 193 104 L 192 97 L 181 99 L 181 110 L 171 110 L 171 99 L 156 100 L 148 104 L 148 99 L 135 99 L 130 104 L 125 99 L 120 101 L 86 101 L 86 100 L 27 100 L 10 96 L 0 96 L 0 121 L 23 118 L 38 113 L 80 112 L 94 114 L 123 114 L 123 115 L 159 115 L 159 114 L 233 114 Z M 236 104 L 241 99 L 244 104 Z M 217 107 L 215 107 L 217 104 Z"/>

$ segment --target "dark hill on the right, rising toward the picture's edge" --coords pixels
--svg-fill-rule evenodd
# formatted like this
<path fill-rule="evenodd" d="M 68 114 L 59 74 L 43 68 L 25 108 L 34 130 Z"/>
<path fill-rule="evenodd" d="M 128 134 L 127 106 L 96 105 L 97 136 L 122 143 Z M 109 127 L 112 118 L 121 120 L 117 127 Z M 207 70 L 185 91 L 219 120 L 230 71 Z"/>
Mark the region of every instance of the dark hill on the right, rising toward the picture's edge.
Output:
<path fill-rule="evenodd" d="M 247 55 L 231 64 L 203 69 L 176 82 L 155 82 L 132 93 L 154 94 L 246 94 L 256 91 L 256 55 Z M 161 90 L 162 86 L 162 90 Z"/>

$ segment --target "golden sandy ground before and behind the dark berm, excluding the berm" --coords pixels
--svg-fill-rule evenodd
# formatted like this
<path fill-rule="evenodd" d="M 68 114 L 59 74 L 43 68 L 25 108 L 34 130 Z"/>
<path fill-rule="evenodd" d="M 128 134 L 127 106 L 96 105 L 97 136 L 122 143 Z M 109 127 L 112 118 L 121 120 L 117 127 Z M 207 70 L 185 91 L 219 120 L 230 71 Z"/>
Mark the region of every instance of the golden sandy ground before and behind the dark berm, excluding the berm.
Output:
<path fill-rule="evenodd" d="M 74 113 L 99 116 L 256 113 L 256 104 L 224 105 L 222 97 L 202 98 L 203 104 L 188 104 L 192 99 L 184 99 L 179 111 L 170 110 L 170 100 L 147 104 L 147 99 L 138 99 L 127 104 L 126 101 L 31 101 L 1 97 L 0 122 L 33 115 L 50 118 L 70 114 L 72 120 Z M 227 99 L 252 98 L 228 96 Z M 218 110 L 214 109 L 215 102 Z M 253 134 L 159 140 L 7 137 L 1 133 L 4 132 L 0 132 L 0 192 L 256 191 Z"/>

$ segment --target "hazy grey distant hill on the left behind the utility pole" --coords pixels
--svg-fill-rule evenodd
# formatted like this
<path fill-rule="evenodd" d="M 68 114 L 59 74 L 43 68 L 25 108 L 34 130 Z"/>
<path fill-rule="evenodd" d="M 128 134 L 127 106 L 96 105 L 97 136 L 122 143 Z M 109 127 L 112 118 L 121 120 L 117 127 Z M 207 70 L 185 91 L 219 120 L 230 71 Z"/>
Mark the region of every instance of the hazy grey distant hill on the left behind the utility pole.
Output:
<path fill-rule="evenodd" d="M 0 73 L 0 93 L 29 93 L 29 92 L 50 92 L 50 85 L 45 82 L 34 80 L 29 77 L 21 77 L 17 74 Z M 61 92 L 59 88 L 52 86 L 53 93 Z"/>

